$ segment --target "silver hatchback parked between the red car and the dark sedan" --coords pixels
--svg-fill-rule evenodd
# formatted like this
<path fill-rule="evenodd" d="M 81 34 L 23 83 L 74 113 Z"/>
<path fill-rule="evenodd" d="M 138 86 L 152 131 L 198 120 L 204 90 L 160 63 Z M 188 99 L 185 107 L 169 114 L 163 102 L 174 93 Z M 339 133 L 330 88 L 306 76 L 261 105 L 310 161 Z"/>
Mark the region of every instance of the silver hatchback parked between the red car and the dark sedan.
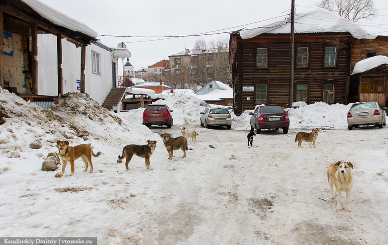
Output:
<path fill-rule="evenodd" d="M 206 108 L 201 114 L 200 125 L 210 128 L 212 126 L 225 126 L 227 129 L 232 127 L 232 117 L 227 109 L 224 108 Z"/>

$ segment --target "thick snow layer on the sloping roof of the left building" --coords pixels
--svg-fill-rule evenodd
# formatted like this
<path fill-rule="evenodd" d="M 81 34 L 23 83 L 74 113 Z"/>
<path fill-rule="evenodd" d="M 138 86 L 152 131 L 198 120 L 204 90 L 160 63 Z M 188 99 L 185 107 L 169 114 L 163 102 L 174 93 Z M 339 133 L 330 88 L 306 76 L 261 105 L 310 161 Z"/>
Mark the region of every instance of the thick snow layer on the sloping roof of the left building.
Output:
<path fill-rule="evenodd" d="M 56 25 L 63 26 L 67 29 L 84 33 L 93 38 L 97 38 L 97 31 L 88 27 L 84 23 L 65 15 L 64 13 L 57 11 L 56 9 L 38 1 L 38 0 L 21 0 L 33 10 L 35 10 L 42 17 L 50 20 Z"/>

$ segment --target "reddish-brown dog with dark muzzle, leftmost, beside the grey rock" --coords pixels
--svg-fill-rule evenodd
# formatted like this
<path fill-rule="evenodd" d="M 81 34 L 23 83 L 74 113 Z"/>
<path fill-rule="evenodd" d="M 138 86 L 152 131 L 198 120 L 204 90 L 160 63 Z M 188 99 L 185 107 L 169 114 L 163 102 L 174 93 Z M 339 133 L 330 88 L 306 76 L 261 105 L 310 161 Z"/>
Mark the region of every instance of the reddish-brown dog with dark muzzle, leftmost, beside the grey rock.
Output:
<path fill-rule="evenodd" d="M 74 161 L 76 161 L 79 158 L 82 158 L 82 161 L 85 163 L 85 170 L 88 170 L 88 166 L 90 165 L 90 172 L 93 172 L 93 164 L 92 164 L 92 155 L 93 157 L 97 158 L 100 154 L 98 152 L 97 154 L 93 153 L 92 147 L 86 144 L 81 144 L 78 146 L 69 146 L 69 141 L 57 141 L 57 147 L 59 150 L 59 156 L 62 159 L 62 173 L 65 172 L 66 164 L 67 162 L 70 162 L 71 170 L 70 176 L 74 174 Z"/>

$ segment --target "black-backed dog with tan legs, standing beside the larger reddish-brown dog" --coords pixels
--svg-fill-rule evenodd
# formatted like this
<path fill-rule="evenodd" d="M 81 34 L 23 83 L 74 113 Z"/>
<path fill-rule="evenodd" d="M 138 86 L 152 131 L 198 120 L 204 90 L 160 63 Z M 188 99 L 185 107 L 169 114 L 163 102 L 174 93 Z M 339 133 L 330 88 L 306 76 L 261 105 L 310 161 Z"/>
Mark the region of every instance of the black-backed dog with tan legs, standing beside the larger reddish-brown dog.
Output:
<path fill-rule="evenodd" d="M 136 155 L 140 158 L 144 158 L 146 167 L 150 170 L 153 170 L 153 168 L 150 167 L 150 157 L 155 151 L 156 143 L 156 140 L 147 140 L 147 145 L 127 145 L 124 147 L 124 149 L 122 149 L 122 155 L 118 156 L 118 159 L 122 160 L 125 157 L 125 167 L 127 170 L 131 170 L 128 167 L 128 163 L 131 161 L 132 156 Z"/>

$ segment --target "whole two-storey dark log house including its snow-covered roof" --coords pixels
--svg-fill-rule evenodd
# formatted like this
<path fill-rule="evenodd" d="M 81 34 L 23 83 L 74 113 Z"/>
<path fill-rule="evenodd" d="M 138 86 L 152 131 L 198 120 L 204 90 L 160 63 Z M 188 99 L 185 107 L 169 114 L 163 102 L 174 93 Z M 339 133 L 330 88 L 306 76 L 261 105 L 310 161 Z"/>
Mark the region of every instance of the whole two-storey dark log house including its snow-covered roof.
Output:
<path fill-rule="evenodd" d="M 376 36 L 323 9 L 299 14 L 295 22 L 292 100 L 308 104 L 350 102 L 352 55 L 355 55 L 352 45 L 359 38 L 373 43 Z M 239 30 L 230 35 L 229 61 L 236 115 L 259 104 L 288 106 L 290 23 L 279 23 L 268 24 L 279 27 L 262 28 L 256 33 L 255 29 L 248 29 L 248 34 Z M 335 27 L 330 29 L 330 24 Z"/>

